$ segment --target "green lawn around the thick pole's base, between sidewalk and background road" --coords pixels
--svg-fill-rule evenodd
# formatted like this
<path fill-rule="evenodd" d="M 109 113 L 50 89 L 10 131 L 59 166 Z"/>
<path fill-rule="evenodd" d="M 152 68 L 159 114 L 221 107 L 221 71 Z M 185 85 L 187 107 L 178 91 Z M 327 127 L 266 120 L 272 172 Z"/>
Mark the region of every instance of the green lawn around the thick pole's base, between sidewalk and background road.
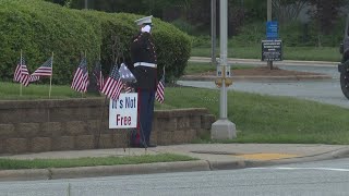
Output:
<path fill-rule="evenodd" d="M 176 108 L 205 107 L 219 115 L 219 90 L 166 89 Z M 348 109 L 288 97 L 228 91 L 228 118 L 237 125 L 229 143 L 349 144 Z M 209 137 L 203 142 L 210 142 Z"/>

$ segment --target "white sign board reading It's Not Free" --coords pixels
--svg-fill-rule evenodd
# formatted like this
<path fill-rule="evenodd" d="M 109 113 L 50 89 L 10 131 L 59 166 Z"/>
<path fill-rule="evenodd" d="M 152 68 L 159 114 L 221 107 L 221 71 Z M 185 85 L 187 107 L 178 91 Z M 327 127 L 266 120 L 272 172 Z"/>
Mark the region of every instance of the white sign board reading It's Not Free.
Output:
<path fill-rule="evenodd" d="M 137 94 L 120 94 L 118 100 L 110 99 L 109 128 L 137 126 Z"/>

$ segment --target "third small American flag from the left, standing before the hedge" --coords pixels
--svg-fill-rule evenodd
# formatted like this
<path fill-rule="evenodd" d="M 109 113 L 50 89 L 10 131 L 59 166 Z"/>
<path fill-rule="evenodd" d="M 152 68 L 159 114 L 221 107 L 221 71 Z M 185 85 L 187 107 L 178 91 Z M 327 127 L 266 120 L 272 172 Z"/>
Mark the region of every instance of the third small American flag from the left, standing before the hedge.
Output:
<path fill-rule="evenodd" d="M 86 93 L 87 86 L 88 86 L 87 61 L 86 61 L 86 58 L 83 58 L 74 74 L 74 78 L 71 87 L 76 91 Z"/>

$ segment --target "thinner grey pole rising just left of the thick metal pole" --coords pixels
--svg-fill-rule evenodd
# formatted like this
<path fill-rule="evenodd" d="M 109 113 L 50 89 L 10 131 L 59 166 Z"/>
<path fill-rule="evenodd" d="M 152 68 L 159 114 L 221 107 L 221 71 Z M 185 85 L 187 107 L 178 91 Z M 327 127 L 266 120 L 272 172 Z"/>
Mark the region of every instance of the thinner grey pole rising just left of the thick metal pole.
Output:
<path fill-rule="evenodd" d="M 210 0 L 210 62 L 213 65 L 217 66 L 216 60 L 216 40 L 217 40 L 217 1 Z"/>

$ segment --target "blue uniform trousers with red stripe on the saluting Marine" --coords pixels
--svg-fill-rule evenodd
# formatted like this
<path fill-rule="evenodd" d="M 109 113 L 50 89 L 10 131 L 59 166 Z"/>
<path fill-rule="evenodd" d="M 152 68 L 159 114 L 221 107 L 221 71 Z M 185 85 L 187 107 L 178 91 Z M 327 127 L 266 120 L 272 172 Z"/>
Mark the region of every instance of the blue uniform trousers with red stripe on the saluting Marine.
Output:
<path fill-rule="evenodd" d="M 135 144 L 149 144 L 153 127 L 155 91 L 137 89 L 139 93 L 139 122 Z"/>

